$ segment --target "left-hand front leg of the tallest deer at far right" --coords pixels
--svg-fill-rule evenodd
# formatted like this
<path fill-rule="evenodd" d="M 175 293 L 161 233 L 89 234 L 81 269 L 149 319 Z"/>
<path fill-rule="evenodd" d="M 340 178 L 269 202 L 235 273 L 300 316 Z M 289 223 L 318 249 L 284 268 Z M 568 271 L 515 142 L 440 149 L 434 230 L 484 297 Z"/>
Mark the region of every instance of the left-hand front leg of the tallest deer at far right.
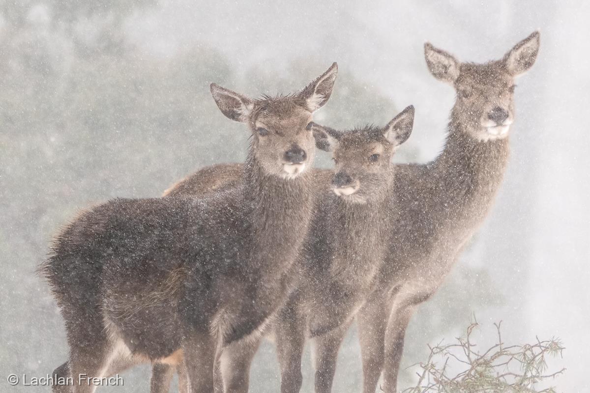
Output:
<path fill-rule="evenodd" d="M 385 299 L 367 302 L 356 316 L 363 364 L 363 393 L 375 393 L 385 354 L 388 307 Z"/>

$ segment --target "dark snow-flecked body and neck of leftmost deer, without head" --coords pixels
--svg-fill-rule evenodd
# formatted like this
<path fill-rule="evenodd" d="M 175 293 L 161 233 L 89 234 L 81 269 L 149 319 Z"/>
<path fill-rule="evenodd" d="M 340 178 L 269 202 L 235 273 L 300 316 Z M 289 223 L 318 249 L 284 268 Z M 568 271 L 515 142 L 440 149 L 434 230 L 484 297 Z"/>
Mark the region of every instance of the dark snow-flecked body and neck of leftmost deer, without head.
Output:
<path fill-rule="evenodd" d="M 66 227 L 42 272 L 70 344 L 109 333 L 155 360 L 180 348 L 189 329 L 219 331 L 229 343 L 261 325 L 281 304 L 269 295 L 284 292 L 311 200 L 305 174 L 277 179 L 254 161 L 244 173 L 258 186 L 207 199 L 116 199 Z"/>

